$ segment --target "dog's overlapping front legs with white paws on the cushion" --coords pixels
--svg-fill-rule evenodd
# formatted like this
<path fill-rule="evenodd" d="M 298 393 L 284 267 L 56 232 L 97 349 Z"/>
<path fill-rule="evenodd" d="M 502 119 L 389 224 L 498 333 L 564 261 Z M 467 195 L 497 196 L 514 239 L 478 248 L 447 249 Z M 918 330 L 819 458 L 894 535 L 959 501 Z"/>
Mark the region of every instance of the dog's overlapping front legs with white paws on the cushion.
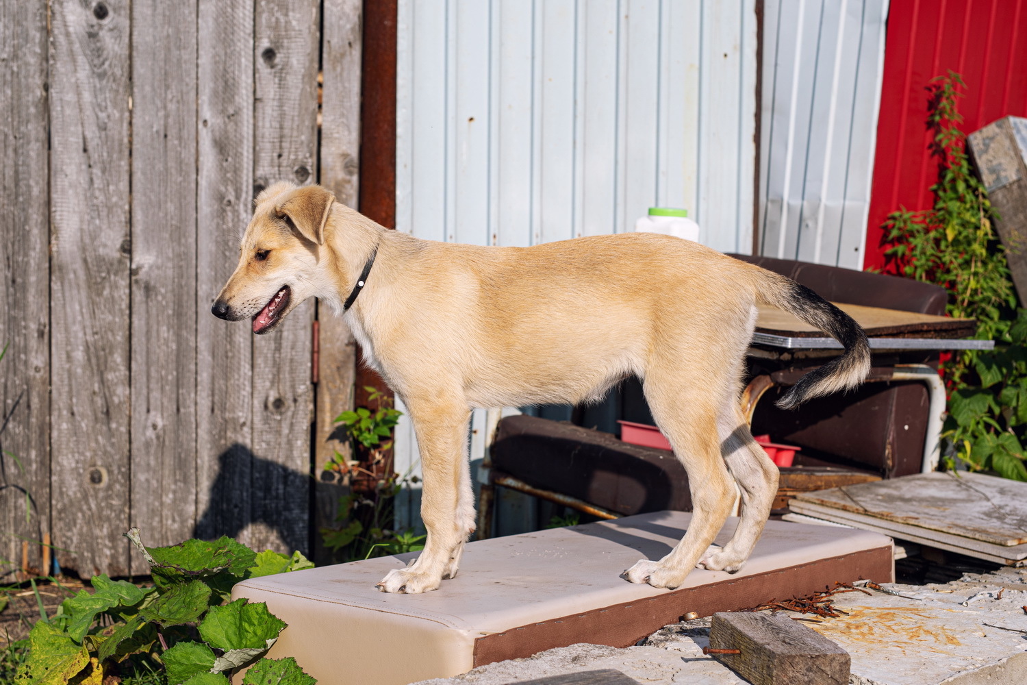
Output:
<path fill-rule="evenodd" d="M 456 404 L 421 404 L 409 398 L 406 404 L 421 453 L 421 520 L 428 536 L 413 566 L 389 571 L 378 588 L 414 595 L 438 589 L 444 577 L 456 575 L 463 544 L 473 532 L 473 503 L 467 501 L 469 492 L 464 492 L 469 490 L 469 479 L 462 467 L 467 459 L 470 410 Z"/>

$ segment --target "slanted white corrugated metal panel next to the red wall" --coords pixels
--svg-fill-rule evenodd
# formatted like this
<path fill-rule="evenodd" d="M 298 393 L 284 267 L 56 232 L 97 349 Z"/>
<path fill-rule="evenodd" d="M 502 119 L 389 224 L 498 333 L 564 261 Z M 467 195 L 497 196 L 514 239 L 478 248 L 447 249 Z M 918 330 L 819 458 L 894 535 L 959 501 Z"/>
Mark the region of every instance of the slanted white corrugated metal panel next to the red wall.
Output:
<path fill-rule="evenodd" d="M 765 0 L 760 254 L 863 269 L 888 0 Z"/>

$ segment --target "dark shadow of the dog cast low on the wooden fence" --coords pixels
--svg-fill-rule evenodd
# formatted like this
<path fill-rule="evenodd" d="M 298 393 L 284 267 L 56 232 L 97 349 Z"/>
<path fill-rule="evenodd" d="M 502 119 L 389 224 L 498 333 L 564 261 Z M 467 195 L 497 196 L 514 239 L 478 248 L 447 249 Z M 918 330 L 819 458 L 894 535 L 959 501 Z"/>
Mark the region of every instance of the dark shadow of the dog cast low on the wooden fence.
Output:
<path fill-rule="evenodd" d="M 193 537 L 238 537 L 258 524 L 276 534 L 291 551 L 310 550 L 310 500 L 313 479 L 258 457 L 236 443 L 218 456 L 218 473 Z"/>

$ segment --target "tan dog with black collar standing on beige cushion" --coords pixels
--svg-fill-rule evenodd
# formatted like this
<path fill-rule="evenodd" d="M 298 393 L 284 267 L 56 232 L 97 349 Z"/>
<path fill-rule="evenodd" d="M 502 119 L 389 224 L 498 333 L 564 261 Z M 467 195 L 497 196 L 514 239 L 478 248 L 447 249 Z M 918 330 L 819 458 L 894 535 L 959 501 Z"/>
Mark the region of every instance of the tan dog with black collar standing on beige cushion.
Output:
<path fill-rule="evenodd" d="M 688 471 L 693 515 L 667 557 L 640 561 L 624 575 L 676 587 L 696 566 L 737 570 L 777 490 L 777 467 L 753 441 L 738 404 L 756 304 L 786 309 L 845 347 L 781 406 L 850 388 L 870 369 L 866 336 L 836 307 L 695 242 L 652 233 L 532 248 L 431 242 L 386 230 L 334 199 L 324 188 L 289 183 L 262 192 L 213 312 L 251 318 L 255 333 L 267 333 L 304 299 L 320 298 L 345 310 L 365 357 L 407 406 L 428 535 L 412 566 L 379 583 L 386 593 L 424 593 L 456 575 L 474 529 L 472 408 L 580 404 L 631 374 L 641 378 Z M 740 523 L 722 549 L 711 547 L 735 482 Z"/>

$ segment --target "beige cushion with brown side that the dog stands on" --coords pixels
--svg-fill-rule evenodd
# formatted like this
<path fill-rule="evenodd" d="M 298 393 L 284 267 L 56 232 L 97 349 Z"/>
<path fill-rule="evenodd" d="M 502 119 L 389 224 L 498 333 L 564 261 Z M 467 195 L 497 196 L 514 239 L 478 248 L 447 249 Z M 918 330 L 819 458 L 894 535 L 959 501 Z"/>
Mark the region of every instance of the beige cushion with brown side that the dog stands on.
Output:
<path fill-rule="evenodd" d="M 689 611 L 708 616 L 893 576 L 884 535 L 770 521 L 738 573 L 696 569 L 676 591 L 619 577 L 639 559 L 665 555 L 689 519 L 657 511 L 471 542 L 458 577 L 424 595 L 375 588 L 414 553 L 255 578 L 232 596 L 267 602 L 289 623 L 269 656 L 294 656 L 326 685 L 400 685 L 578 642 L 625 647 Z"/>

